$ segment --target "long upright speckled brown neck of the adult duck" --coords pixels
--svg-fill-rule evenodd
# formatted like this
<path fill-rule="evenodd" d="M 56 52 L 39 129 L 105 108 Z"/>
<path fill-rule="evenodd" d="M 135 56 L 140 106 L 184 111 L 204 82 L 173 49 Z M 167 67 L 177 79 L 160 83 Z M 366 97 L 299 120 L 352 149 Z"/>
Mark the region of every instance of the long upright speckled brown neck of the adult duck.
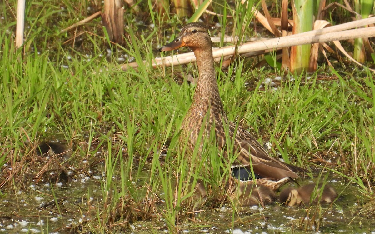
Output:
<path fill-rule="evenodd" d="M 198 65 L 199 78 L 193 97 L 193 103 L 208 103 L 211 112 L 223 114 L 223 104 L 217 86 L 212 47 L 195 49 L 194 55 Z"/>

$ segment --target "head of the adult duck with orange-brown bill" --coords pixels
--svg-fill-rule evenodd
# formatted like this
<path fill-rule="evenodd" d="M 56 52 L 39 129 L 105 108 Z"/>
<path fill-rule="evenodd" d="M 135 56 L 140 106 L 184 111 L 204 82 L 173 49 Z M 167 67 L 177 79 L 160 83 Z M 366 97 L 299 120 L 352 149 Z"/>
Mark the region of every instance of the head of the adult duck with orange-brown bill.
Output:
<path fill-rule="evenodd" d="M 171 51 L 183 46 L 187 46 L 193 51 L 211 47 L 211 37 L 207 27 L 201 23 L 186 24 L 181 33 L 172 42 L 162 46 L 159 51 Z"/>

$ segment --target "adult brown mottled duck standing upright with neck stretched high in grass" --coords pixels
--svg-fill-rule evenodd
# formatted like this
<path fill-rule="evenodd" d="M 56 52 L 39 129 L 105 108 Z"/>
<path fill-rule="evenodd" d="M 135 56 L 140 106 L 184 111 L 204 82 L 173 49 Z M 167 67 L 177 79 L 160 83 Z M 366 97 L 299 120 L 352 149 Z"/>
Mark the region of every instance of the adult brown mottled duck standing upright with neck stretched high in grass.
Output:
<path fill-rule="evenodd" d="M 198 65 L 199 78 L 193 96 L 193 102 L 181 124 L 180 142 L 187 144 L 194 150 L 198 142 L 201 128 L 204 136 L 209 136 L 214 126 L 215 136 L 219 149 L 223 149 L 224 157 L 238 155 L 232 168 L 245 167 L 254 170 L 258 178 L 281 179 L 285 177 L 299 177 L 295 172 L 306 171 L 297 166 L 289 165 L 270 157 L 259 142 L 246 130 L 236 127 L 229 121 L 224 112 L 219 95 L 219 87 L 214 69 L 212 56 L 212 42 L 207 27 L 201 23 L 186 24 L 181 33 L 171 42 L 162 46 L 160 51 L 171 51 L 183 46 L 193 50 Z M 224 124 L 227 125 L 224 127 Z M 234 151 L 227 152 L 225 130 L 234 142 Z M 234 141 L 233 141 L 234 138 Z M 199 145 L 202 148 L 202 143 Z"/>

